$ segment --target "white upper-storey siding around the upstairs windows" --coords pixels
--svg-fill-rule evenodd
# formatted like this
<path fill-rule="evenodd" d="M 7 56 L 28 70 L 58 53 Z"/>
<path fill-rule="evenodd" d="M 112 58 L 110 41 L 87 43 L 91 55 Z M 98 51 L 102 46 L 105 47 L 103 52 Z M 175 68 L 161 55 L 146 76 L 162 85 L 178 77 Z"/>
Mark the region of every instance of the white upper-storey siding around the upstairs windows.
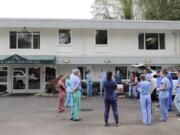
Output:
<path fill-rule="evenodd" d="M 72 29 L 70 46 L 58 45 L 58 29 L 34 29 L 40 31 L 40 49 L 9 49 L 9 31 L 0 29 L 0 52 L 19 55 L 59 55 L 59 56 L 176 56 L 176 36 L 173 31 L 155 30 L 108 30 L 108 45 L 95 45 L 95 30 Z M 13 29 L 14 30 L 14 29 Z M 21 30 L 21 29 L 17 29 Z M 33 31 L 33 29 L 28 29 Z M 139 50 L 139 32 L 164 32 L 166 34 L 165 50 Z M 178 42 L 179 43 L 179 42 Z"/>

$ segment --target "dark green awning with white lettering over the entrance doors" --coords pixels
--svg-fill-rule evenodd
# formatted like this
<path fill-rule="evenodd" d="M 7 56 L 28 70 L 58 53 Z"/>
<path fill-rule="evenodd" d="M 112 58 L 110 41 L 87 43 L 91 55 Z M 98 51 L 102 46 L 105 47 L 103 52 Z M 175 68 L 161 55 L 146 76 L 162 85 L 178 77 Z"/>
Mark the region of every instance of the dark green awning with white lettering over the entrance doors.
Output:
<path fill-rule="evenodd" d="M 54 55 L 0 55 L 0 64 L 55 64 Z"/>

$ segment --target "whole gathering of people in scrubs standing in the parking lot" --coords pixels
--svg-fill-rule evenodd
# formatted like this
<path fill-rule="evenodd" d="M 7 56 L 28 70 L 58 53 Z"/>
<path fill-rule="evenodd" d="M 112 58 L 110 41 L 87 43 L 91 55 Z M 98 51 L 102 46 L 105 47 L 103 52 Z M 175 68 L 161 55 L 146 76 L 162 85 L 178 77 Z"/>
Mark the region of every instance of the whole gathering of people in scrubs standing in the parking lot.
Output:
<path fill-rule="evenodd" d="M 121 83 L 121 75 L 119 71 L 115 74 L 114 79 L 112 78 L 113 73 L 108 71 L 105 73 L 103 70 L 99 75 L 100 79 L 100 95 L 104 95 L 104 121 L 105 126 L 109 125 L 109 111 L 112 107 L 114 119 L 116 126 L 119 126 L 119 114 L 118 114 L 118 105 L 117 105 L 117 84 Z M 180 70 L 177 72 L 178 75 L 178 84 L 176 86 L 176 97 L 174 99 L 175 106 L 178 110 L 178 116 L 180 116 Z M 157 86 L 156 90 L 159 95 L 159 105 L 160 105 L 160 120 L 166 122 L 168 120 L 168 110 L 172 110 L 172 89 L 173 83 L 172 77 L 168 74 L 166 69 L 162 69 L 157 72 Z M 140 80 L 138 83 L 134 84 L 135 76 L 132 74 L 130 78 L 130 90 L 134 90 L 134 86 L 139 92 L 140 96 L 140 106 L 141 113 L 143 118 L 143 123 L 145 125 L 151 125 L 152 123 L 152 114 L 151 114 L 151 74 L 146 70 L 143 74 L 140 75 Z M 86 83 L 87 83 L 87 96 L 91 96 L 92 90 L 92 76 L 90 71 L 86 74 Z M 73 121 L 80 121 L 79 110 L 81 102 L 81 78 L 79 69 L 73 69 L 71 75 L 61 76 L 58 81 L 58 90 L 59 90 L 59 112 L 64 111 L 64 106 L 71 107 L 70 119 Z M 135 93 L 135 90 L 134 92 Z M 129 94 L 131 94 L 129 92 Z M 65 101 L 66 96 L 66 101 Z"/>

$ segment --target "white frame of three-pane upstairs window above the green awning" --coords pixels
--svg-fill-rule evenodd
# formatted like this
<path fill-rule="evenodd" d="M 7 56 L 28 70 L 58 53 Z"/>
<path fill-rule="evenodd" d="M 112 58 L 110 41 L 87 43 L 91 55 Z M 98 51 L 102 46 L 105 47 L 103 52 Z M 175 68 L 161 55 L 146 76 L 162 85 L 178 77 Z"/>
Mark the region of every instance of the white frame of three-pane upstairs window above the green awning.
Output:
<path fill-rule="evenodd" d="M 11 37 L 10 37 L 10 33 L 11 32 L 16 32 L 16 47 L 15 48 L 11 48 Z M 40 31 L 27 31 L 27 33 L 31 33 L 31 47 L 30 48 L 19 48 L 19 44 L 18 44 L 18 33 L 23 32 L 23 31 L 17 31 L 17 30 L 12 30 L 9 31 L 9 49 L 25 49 L 25 50 L 38 50 L 41 48 L 41 34 Z M 39 33 L 39 48 L 34 48 L 34 33 Z"/>

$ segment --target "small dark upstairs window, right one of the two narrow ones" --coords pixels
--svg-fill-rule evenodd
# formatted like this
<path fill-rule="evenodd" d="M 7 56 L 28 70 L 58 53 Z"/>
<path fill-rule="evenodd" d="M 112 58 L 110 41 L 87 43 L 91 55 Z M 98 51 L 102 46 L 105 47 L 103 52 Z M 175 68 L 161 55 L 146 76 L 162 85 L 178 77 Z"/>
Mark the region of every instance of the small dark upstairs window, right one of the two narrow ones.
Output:
<path fill-rule="evenodd" d="M 106 45 L 108 42 L 107 38 L 107 30 L 96 30 L 96 44 Z"/>

